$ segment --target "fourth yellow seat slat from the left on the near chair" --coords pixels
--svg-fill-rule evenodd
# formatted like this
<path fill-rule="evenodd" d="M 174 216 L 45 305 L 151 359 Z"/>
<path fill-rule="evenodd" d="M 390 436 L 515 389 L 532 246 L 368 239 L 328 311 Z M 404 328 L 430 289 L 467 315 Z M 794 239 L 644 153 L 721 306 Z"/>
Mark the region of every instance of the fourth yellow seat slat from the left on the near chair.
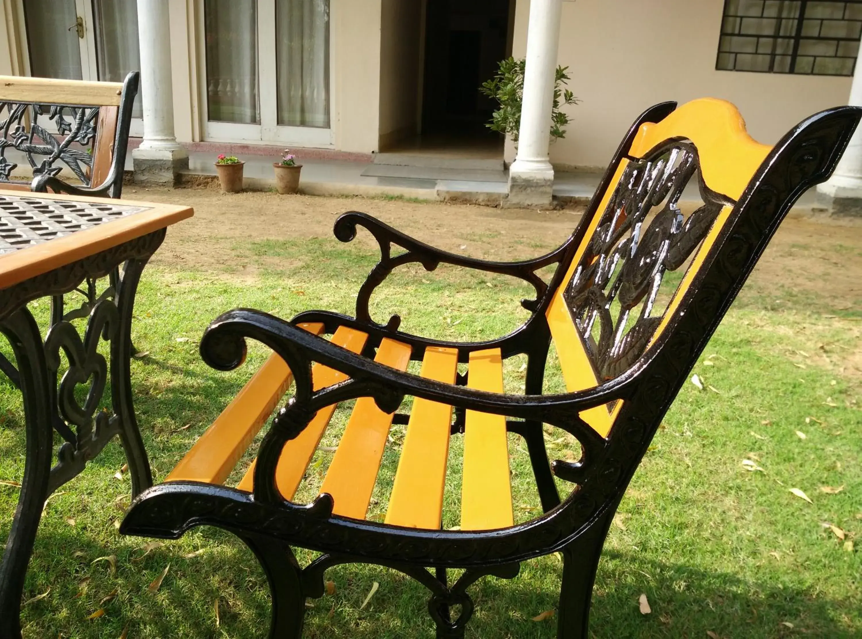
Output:
<path fill-rule="evenodd" d="M 422 377 L 454 384 L 456 373 L 458 351 L 455 348 L 425 349 Z M 440 528 L 451 427 L 452 406 L 423 398 L 413 400 L 386 523 L 409 528 Z"/>

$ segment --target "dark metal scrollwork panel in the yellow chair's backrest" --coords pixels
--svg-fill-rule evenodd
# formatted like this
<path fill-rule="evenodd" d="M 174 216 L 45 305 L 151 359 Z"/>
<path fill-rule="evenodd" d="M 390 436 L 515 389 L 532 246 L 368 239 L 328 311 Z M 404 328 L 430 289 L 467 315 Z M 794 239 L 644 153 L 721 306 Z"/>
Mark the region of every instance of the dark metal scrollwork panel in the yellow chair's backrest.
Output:
<path fill-rule="evenodd" d="M 721 209 L 735 204 L 710 191 L 698 168 L 695 147 L 681 141 L 631 160 L 565 289 L 601 379 L 644 353 L 664 314 L 653 310 L 665 273 L 686 265 Z M 679 199 L 692 179 L 703 205 L 686 217 Z"/>

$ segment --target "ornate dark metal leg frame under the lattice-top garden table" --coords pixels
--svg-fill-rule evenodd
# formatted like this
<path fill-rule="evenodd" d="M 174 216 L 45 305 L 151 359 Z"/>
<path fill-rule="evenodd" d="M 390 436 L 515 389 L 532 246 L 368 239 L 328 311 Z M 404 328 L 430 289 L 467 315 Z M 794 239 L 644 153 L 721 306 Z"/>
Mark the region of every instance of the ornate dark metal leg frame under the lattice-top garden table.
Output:
<path fill-rule="evenodd" d="M 131 329 L 134 297 L 141 272 L 164 237 L 164 231 L 138 240 L 141 247 L 126 247 L 122 274 L 112 278 L 112 295 L 88 295 L 91 304 L 84 337 L 68 320 L 54 317 L 43 343 L 38 325 L 27 310 L 29 300 L 74 289 L 84 279 L 103 277 L 112 268 L 113 255 L 94 256 L 84 262 L 47 273 L 45 285 L 37 281 L 18 293 L 7 289 L 0 296 L 0 332 L 9 339 L 16 356 L 19 385 L 24 400 L 27 457 L 21 493 L 6 548 L 0 564 L 0 639 L 21 636 L 20 607 L 24 578 L 33 552 L 36 530 L 48 495 L 84 470 L 87 461 L 120 435 L 132 479 L 133 497 L 153 484 L 147 451 L 134 416 L 131 387 Z M 120 249 L 116 250 L 119 253 Z M 136 249 L 136 250 L 135 250 Z M 120 260 L 122 261 L 122 259 Z M 76 268 L 77 267 L 77 268 Z M 95 285 L 88 281 L 88 293 Z M 39 294 L 37 294 L 37 292 Z M 10 308 L 17 310 L 10 312 Z M 86 316 L 83 313 L 76 316 Z M 100 341 L 110 342 L 108 362 L 98 353 Z M 59 380 L 60 351 L 69 367 Z M 110 374 L 110 412 L 98 411 Z M 92 379 L 92 381 L 90 381 Z M 75 398 L 75 387 L 89 385 L 83 405 Z M 52 467 L 53 431 L 66 442 L 59 448 Z"/>

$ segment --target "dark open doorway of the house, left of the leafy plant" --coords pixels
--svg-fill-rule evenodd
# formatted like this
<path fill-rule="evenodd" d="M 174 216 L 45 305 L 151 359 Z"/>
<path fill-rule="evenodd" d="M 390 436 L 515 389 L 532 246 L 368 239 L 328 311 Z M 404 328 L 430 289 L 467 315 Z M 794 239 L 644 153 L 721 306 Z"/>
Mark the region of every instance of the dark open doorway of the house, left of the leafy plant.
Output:
<path fill-rule="evenodd" d="M 513 7 L 510 7 L 510 3 Z M 495 103 L 479 93 L 512 50 L 515 0 L 428 0 L 422 87 L 422 138 L 459 146 L 498 145 L 485 126 Z"/>

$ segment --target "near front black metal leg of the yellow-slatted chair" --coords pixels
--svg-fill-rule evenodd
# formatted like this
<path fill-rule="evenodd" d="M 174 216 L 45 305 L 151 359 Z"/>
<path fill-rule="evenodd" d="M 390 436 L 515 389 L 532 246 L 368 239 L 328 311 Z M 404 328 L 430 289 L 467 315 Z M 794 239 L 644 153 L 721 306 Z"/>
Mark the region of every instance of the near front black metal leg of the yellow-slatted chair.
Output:
<path fill-rule="evenodd" d="M 272 595 L 270 639 L 300 639 L 305 621 L 305 593 L 297 558 L 289 546 L 257 535 L 240 535 L 257 556 Z"/>

